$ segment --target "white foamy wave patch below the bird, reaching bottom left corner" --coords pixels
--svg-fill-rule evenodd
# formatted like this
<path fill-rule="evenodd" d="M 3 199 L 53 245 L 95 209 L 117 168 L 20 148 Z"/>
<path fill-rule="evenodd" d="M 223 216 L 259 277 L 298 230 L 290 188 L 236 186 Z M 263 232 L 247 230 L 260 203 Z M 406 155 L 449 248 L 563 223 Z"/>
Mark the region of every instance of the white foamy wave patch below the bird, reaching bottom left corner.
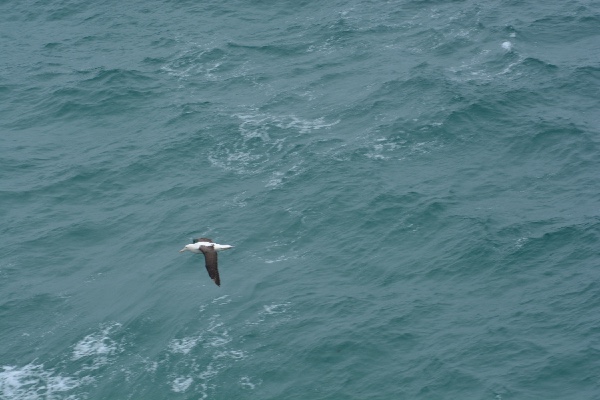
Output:
<path fill-rule="evenodd" d="M 252 348 L 240 340 L 250 331 L 269 330 L 269 326 L 289 320 L 290 303 L 269 303 L 246 315 L 245 320 L 228 325 L 219 310 L 227 306 L 227 295 L 213 299 L 198 312 L 200 324 L 191 323 L 160 349 L 149 353 L 138 347 L 142 331 L 132 331 L 117 322 L 100 324 L 76 340 L 68 352 L 44 362 L 5 365 L 0 368 L 0 397 L 11 399 L 75 399 L 111 393 L 114 385 L 150 376 L 170 393 L 207 396 L 227 392 L 223 379 L 237 375 L 238 388 L 255 390 L 261 379 L 249 370 L 236 367 L 252 359 Z M 234 305 L 235 307 L 235 305 Z M 229 318 L 225 318 L 229 320 Z M 206 321 L 202 323 L 202 321 Z M 177 337 L 179 336 L 179 337 Z M 224 377 L 221 377 L 224 376 Z M 128 385 L 128 393 L 143 396 L 148 388 Z M 154 389 L 152 389 L 154 390 Z"/>

